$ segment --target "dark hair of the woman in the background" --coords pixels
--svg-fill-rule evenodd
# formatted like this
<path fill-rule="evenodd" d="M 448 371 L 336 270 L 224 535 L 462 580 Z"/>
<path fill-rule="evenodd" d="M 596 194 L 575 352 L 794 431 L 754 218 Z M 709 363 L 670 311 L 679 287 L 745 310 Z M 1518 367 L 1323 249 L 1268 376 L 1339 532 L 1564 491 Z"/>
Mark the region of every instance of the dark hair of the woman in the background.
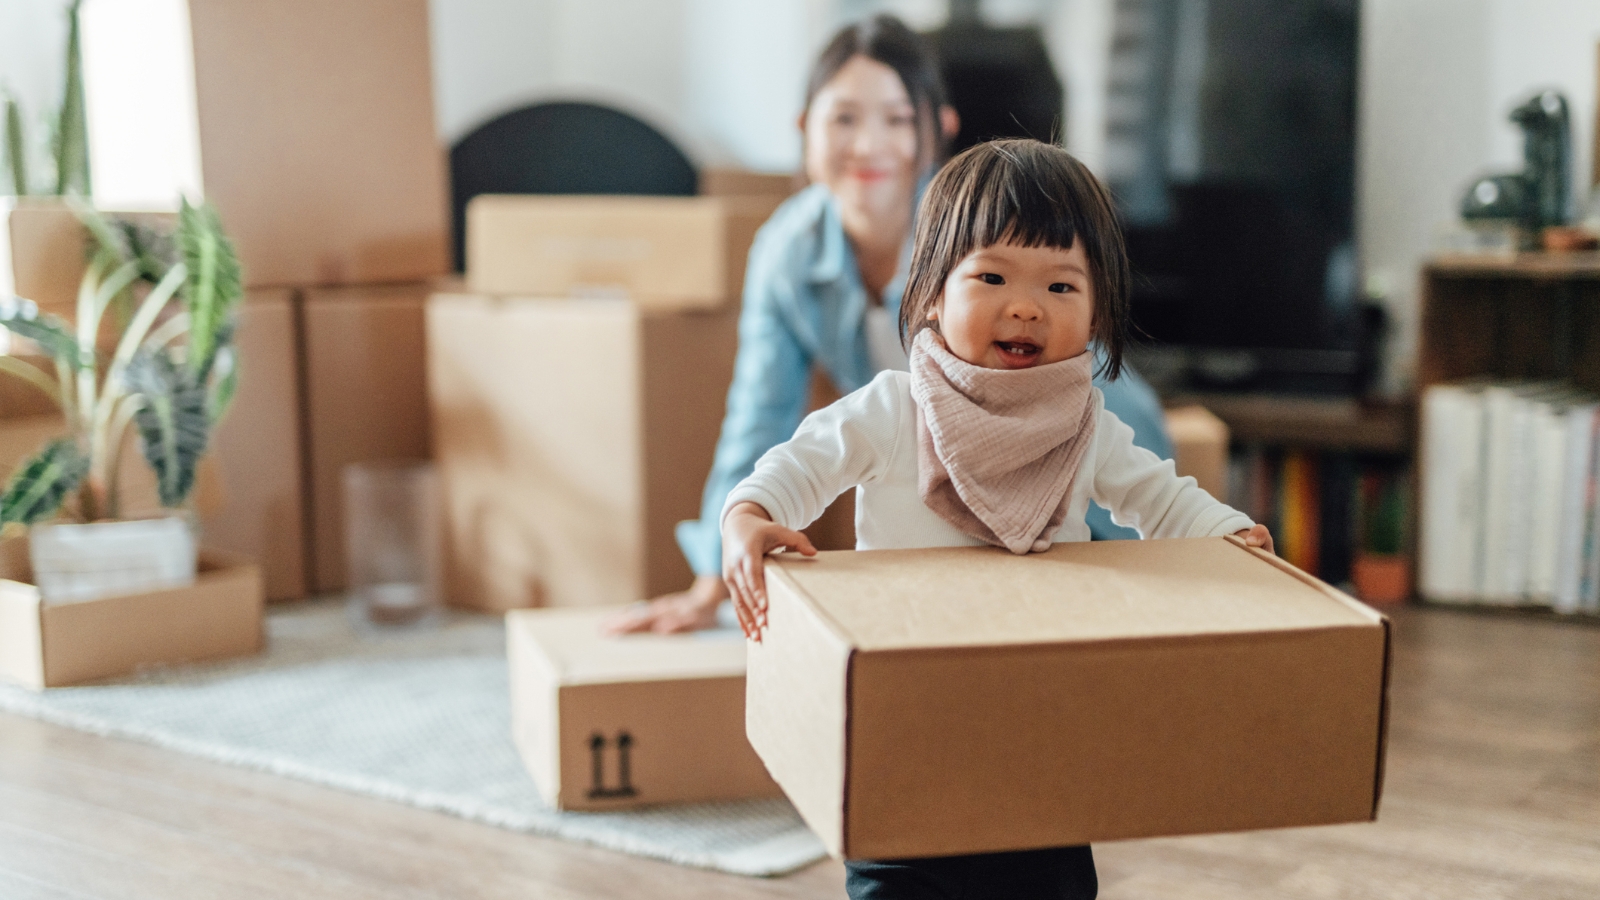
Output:
<path fill-rule="evenodd" d="M 926 165 L 944 160 L 946 139 L 939 128 L 939 109 L 946 104 L 944 80 L 939 77 L 939 61 L 933 48 L 894 16 L 878 14 L 845 26 L 827 42 L 811 66 L 805 88 L 805 109 L 818 91 L 834 80 L 834 75 L 856 56 L 866 56 L 894 69 L 917 117 L 917 155 Z"/>

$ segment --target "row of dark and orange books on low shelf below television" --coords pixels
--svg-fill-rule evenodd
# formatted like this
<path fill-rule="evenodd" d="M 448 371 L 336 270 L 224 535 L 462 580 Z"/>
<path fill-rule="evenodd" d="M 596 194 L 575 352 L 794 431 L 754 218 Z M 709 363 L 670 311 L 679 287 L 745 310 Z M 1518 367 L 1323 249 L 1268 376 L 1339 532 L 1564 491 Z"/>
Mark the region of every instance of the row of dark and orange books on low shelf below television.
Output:
<path fill-rule="evenodd" d="M 1272 530 L 1278 556 L 1344 585 L 1357 557 L 1402 551 L 1405 461 L 1246 445 L 1229 460 L 1229 503 Z"/>

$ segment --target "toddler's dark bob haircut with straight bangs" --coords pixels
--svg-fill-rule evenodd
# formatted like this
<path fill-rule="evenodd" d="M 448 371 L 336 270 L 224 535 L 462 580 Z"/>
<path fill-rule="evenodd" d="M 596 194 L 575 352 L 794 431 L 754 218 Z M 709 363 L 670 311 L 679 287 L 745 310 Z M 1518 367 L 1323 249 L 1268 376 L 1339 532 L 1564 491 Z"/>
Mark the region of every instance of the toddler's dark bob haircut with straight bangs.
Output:
<path fill-rule="evenodd" d="M 950 271 L 995 243 L 1059 247 L 1083 242 L 1094 287 L 1093 340 L 1101 373 L 1122 373 L 1128 341 L 1128 251 L 1110 194 L 1067 151 L 1032 139 L 990 141 L 952 159 L 923 194 L 917 243 L 901 303 L 901 338 L 928 327 Z"/>

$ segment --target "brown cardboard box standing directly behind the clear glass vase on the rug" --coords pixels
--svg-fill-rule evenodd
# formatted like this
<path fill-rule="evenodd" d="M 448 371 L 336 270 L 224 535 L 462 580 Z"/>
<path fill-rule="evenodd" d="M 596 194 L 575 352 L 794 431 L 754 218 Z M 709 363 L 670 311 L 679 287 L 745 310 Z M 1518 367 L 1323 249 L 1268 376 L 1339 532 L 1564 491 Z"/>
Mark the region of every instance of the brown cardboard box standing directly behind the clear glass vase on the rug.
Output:
<path fill-rule="evenodd" d="M 302 291 L 310 589 L 342 591 L 344 468 L 429 456 L 422 311 L 429 287 Z"/>

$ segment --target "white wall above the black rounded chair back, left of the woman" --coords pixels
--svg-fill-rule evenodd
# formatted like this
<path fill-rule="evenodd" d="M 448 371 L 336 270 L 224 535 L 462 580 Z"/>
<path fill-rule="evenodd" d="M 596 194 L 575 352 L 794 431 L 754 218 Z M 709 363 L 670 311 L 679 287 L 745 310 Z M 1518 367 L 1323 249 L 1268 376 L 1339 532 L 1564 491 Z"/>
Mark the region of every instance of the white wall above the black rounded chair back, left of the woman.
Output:
<path fill-rule="evenodd" d="M 547 99 L 624 109 L 699 165 L 787 171 L 832 0 L 430 0 L 438 131 Z"/>

